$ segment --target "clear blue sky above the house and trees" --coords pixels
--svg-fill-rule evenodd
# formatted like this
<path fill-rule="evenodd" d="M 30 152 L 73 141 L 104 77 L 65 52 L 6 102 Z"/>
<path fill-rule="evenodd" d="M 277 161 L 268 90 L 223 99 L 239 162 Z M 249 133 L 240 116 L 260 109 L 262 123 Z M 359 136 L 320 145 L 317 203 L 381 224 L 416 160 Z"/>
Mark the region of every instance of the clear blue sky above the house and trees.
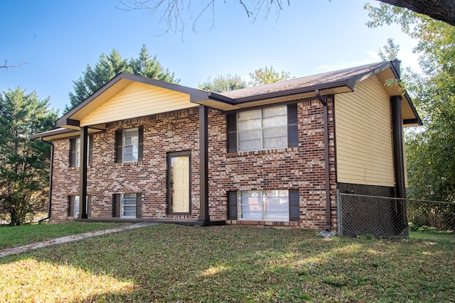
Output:
<path fill-rule="evenodd" d="M 417 68 L 415 41 L 400 28 L 365 26 L 366 0 L 291 1 L 279 16 L 262 15 L 254 22 L 237 2 L 217 2 L 214 27 L 209 11 L 196 31 L 190 21 L 183 35 L 160 35 L 166 25 L 159 23 L 159 13 L 122 10 L 119 0 L 0 0 L 0 62 L 28 62 L 0 70 L 0 91 L 36 91 L 42 99 L 50 97 L 51 107 L 63 109 L 87 64 L 95 65 L 113 48 L 122 57 L 137 57 L 142 44 L 181 85 L 194 88 L 218 75 L 248 81 L 249 72 L 265 65 L 303 77 L 378 62 L 387 38 L 400 45 L 402 65 Z M 193 7 L 193 16 L 198 11 Z"/>

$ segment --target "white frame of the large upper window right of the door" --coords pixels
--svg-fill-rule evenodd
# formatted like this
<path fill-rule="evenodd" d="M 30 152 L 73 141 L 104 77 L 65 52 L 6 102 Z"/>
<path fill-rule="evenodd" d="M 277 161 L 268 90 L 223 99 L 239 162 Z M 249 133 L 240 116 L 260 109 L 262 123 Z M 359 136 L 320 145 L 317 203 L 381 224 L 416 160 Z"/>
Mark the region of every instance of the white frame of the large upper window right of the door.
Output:
<path fill-rule="evenodd" d="M 267 111 L 269 109 L 282 109 L 284 110 L 284 114 L 276 115 L 276 116 L 264 116 L 264 111 Z M 242 114 L 247 114 L 247 113 L 252 113 L 254 111 L 259 111 L 259 119 L 245 119 L 241 120 L 240 116 Z M 287 148 L 288 147 L 288 118 L 287 118 L 287 106 L 273 106 L 273 107 L 265 107 L 262 109 L 252 109 L 250 111 L 240 111 L 237 113 L 237 150 L 242 152 L 242 151 L 252 151 L 252 150 L 269 150 L 269 149 L 276 149 L 276 148 Z M 267 119 L 273 119 L 274 117 L 282 117 L 284 119 L 284 123 L 276 125 L 276 126 L 267 126 L 265 121 Z M 253 122 L 254 120 L 259 120 L 260 121 L 260 127 L 255 127 L 255 123 Z M 252 123 L 250 123 L 252 122 Z M 246 126 L 241 126 L 241 124 L 244 124 Z M 251 126 L 248 126 L 248 124 L 251 124 Z M 242 129 L 244 128 L 244 129 Z M 269 138 L 282 138 L 283 144 L 282 145 L 276 145 L 272 147 L 265 147 L 264 146 L 264 138 L 267 138 L 264 136 L 265 131 L 270 131 L 273 129 L 278 129 L 278 128 L 283 128 L 284 129 L 284 136 L 276 136 L 276 137 L 269 137 Z M 247 133 L 249 131 L 259 131 L 259 138 L 255 138 L 253 140 L 260 140 L 260 147 L 259 148 L 242 148 L 241 143 L 245 142 L 241 140 L 241 136 L 243 133 Z"/>

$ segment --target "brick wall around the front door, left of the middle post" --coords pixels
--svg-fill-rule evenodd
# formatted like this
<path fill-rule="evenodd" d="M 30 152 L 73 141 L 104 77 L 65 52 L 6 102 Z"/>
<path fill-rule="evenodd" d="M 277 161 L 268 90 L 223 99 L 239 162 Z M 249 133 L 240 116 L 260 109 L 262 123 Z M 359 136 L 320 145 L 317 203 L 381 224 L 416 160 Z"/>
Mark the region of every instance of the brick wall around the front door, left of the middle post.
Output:
<path fill-rule="evenodd" d="M 169 130 L 172 123 L 173 130 Z M 198 109 L 109 123 L 93 134 L 92 166 L 87 168 L 91 217 L 112 217 L 113 194 L 141 193 L 143 218 L 197 219 L 199 215 Z M 144 126 L 144 159 L 115 162 L 115 131 Z M 67 221 L 68 196 L 79 194 L 79 168 L 69 167 L 69 139 L 55 145 L 52 220 Z M 191 150 L 191 216 L 167 215 L 167 153 Z"/>

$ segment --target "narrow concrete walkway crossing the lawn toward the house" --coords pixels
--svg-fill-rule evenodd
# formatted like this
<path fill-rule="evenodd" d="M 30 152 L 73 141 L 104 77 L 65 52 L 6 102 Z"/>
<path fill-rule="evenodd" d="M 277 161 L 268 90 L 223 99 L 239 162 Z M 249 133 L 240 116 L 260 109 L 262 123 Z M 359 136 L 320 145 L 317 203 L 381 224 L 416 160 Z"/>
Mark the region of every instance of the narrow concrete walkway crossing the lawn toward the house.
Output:
<path fill-rule="evenodd" d="M 42 248 L 42 247 L 46 247 L 46 246 L 74 242 L 74 241 L 79 241 L 79 240 L 85 239 L 85 238 L 107 235 L 109 233 L 118 233 L 119 231 L 129 231 L 130 229 L 141 228 L 141 227 L 152 226 L 152 225 L 156 225 L 156 223 L 141 222 L 138 224 L 132 224 L 132 225 L 128 225 L 128 226 L 120 226 L 118 228 L 105 229 L 103 231 L 91 231 L 89 233 L 78 233 L 78 234 L 72 235 L 72 236 L 55 238 L 53 240 L 47 240 L 47 241 L 38 242 L 38 243 L 31 243 L 31 244 L 24 245 L 24 246 L 18 246 L 18 247 L 14 247 L 14 248 L 5 248 L 5 249 L 0 250 L 0 258 L 6 257 L 6 255 L 14 255 L 16 253 L 25 253 L 28 250 L 33 250 L 33 249 Z"/>

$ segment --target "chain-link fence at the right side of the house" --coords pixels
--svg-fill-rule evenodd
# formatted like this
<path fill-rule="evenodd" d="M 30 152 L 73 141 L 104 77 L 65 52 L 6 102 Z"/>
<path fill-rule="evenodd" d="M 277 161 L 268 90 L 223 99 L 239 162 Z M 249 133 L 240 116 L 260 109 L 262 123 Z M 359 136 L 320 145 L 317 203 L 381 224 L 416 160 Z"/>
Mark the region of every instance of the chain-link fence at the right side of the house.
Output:
<path fill-rule="evenodd" d="M 455 230 L 455 203 L 338 192 L 338 234 L 408 238 L 409 230 Z"/>

